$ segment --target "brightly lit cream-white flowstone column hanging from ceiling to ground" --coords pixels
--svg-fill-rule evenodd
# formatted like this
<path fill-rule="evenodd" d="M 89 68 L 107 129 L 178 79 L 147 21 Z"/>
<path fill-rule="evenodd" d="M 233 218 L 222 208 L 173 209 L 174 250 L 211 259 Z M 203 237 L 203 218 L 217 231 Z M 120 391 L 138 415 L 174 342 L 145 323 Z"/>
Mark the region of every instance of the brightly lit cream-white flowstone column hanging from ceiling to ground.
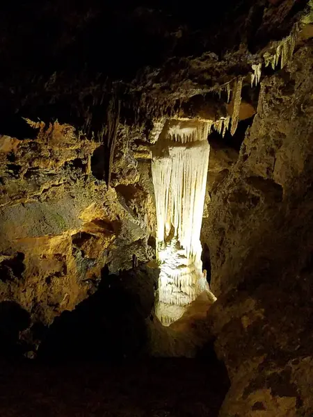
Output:
<path fill-rule="evenodd" d="M 163 325 L 182 316 L 184 307 L 207 287 L 200 230 L 209 165 L 208 131 L 207 122 L 171 122 L 161 148 L 153 152 L 161 270 L 156 312 Z"/>

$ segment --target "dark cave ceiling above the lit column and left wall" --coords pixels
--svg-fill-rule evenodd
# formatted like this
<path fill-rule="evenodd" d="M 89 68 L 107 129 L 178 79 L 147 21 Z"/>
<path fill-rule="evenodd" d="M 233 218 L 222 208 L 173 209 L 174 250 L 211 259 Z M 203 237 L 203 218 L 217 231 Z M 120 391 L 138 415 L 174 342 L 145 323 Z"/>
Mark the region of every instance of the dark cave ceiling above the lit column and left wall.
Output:
<path fill-rule="evenodd" d="M 246 76 L 271 42 L 290 33 L 306 5 L 6 3 L 0 14 L 1 133 L 14 134 L 17 119 L 27 117 L 66 122 L 104 140 L 104 126 L 114 124 L 111 113 L 127 124 L 160 117 L 177 101 Z"/>

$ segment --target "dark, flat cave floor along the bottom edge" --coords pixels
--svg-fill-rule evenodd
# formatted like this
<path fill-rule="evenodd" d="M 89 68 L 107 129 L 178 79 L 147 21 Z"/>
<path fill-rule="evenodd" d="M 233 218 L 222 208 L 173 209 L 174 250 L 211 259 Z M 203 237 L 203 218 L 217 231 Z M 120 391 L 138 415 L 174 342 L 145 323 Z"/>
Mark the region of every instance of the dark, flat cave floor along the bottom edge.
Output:
<path fill-rule="evenodd" d="M 206 360 L 1 363 L 0 415 L 214 417 L 227 389 L 223 367 Z"/>

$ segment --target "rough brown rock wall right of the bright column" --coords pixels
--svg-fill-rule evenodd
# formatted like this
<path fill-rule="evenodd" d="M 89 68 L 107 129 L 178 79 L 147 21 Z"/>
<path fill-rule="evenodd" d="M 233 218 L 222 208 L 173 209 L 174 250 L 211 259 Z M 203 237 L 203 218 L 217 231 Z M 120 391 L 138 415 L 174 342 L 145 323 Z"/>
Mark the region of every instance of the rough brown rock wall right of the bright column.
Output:
<path fill-rule="evenodd" d="M 232 382 L 220 416 L 313 413 L 313 43 L 262 81 L 209 206 L 209 311 Z"/>

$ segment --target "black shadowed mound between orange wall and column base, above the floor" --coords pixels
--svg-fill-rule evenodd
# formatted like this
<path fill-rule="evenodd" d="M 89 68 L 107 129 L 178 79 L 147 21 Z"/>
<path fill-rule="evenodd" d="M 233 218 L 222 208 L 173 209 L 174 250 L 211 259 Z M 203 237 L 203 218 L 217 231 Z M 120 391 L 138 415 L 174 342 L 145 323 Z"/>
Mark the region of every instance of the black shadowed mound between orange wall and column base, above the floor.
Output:
<path fill-rule="evenodd" d="M 147 344 L 145 319 L 154 305 L 157 270 L 141 265 L 109 275 L 102 271 L 97 291 L 74 311 L 54 320 L 40 345 L 44 361 L 103 360 L 142 357 Z"/>

